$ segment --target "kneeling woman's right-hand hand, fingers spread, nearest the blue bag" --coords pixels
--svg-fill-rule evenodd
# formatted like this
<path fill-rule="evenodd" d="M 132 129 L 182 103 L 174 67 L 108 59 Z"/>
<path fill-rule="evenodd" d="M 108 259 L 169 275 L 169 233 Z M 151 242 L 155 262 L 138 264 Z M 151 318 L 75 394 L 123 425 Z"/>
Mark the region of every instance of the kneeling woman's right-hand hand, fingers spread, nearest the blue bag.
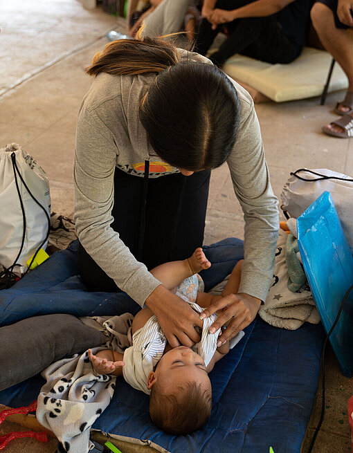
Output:
<path fill-rule="evenodd" d="M 215 333 L 226 322 L 229 322 L 227 329 L 222 331 L 217 340 L 217 346 L 221 346 L 255 319 L 260 305 L 261 300 L 257 297 L 245 293 L 229 294 L 212 302 L 201 313 L 200 317 L 203 319 L 216 312 L 219 315 L 218 319 L 210 326 L 210 333 Z"/>

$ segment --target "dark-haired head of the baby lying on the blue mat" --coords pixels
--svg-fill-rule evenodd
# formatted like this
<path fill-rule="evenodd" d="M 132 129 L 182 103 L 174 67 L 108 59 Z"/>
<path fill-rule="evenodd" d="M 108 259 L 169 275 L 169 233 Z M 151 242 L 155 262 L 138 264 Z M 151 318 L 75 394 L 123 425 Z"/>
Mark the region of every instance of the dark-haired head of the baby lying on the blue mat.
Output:
<path fill-rule="evenodd" d="M 148 376 L 150 416 L 169 434 L 188 434 L 201 428 L 212 408 L 212 389 L 205 363 L 185 346 L 165 353 Z"/>

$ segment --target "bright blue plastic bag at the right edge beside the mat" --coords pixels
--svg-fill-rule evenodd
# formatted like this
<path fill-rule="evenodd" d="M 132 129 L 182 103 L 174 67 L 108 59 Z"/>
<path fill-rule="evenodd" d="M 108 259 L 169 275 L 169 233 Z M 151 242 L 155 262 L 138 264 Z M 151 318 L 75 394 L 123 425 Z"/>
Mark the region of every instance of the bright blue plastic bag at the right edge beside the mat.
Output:
<path fill-rule="evenodd" d="M 323 192 L 297 219 L 302 264 L 326 333 L 331 329 L 348 288 L 353 257 L 329 192 Z M 342 372 L 353 371 L 353 290 L 329 337 Z"/>

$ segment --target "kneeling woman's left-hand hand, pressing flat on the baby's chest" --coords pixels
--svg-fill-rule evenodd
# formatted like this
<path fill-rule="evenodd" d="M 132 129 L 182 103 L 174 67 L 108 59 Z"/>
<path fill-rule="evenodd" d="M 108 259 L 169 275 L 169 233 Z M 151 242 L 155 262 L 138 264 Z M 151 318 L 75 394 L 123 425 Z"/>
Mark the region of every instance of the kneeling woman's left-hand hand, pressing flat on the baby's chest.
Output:
<path fill-rule="evenodd" d="M 159 325 L 172 348 L 192 346 L 200 341 L 200 335 L 194 329 L 202 329 L 203 321 L 199 319 L 189 304 L 160 285 L 147 297 L 145 304 L 156 315 Z"/>

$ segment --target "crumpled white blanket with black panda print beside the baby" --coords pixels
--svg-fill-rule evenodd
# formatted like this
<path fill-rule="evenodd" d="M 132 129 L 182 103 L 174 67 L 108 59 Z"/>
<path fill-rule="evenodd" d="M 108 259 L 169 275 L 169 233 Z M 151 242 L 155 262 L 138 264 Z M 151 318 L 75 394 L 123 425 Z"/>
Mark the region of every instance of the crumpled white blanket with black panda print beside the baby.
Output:
<path fill-rule="evenodd" d="M 106 348 L 123 353 L 130 346 L 129 328 L 133 316 L 80 318 L 85 324 L 104 331 L 109 341 L 93 348 L 94 354 Z M 87 453 L 91 425 L 109 405 L 115 389 L 115 376 L 98 375 L 88 352 L 51 364 L 42 371 L 46 384 L 37 398 L 37 419 L 59 439 L 58 453 Z"/>

